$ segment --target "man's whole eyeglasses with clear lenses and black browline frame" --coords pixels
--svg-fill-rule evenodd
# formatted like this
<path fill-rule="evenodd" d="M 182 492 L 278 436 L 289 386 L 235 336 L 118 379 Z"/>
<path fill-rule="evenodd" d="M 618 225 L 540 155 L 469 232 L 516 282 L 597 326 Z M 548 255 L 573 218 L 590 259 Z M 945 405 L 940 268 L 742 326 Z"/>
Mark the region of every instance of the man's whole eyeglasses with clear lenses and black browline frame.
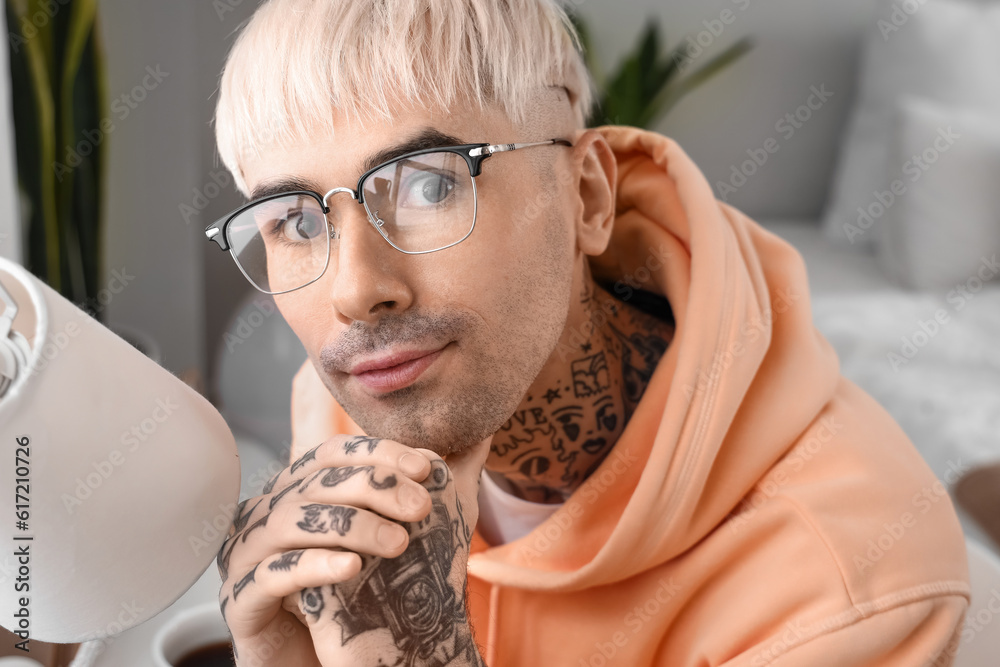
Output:
<path fill-rule="evenodd" d="M 247 280 L 265 294 L 284 294 L 316 282 L 330 264 L 339 231 L 327 217 L 338 192 L 365 207 L 389 245 L 408 255 L 461 243 L 476 226 L 476 176 L 494 153 L 532 146 L 572 146 L 566 139 L 523 144 L 462 144 L 401 155 L 369 169 L 356 190 L 282 192 L 252 201 L 205 228 L 228 250 Z"/>

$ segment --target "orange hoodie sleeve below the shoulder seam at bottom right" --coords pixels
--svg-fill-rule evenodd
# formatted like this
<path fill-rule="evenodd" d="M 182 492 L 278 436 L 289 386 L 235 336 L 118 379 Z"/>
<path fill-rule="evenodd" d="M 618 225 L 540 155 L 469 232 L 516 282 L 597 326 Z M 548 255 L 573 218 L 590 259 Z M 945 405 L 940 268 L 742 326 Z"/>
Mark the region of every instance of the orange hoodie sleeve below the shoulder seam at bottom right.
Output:
<path fill-rule="evenodd" d="M 968 600 L 942 595 L 881 611 L 833 627 L 801 644 L 780 637 L 755 647 L 727 667 L 950 667 L 961 644 L 974 641 L 963 631 Z"/>

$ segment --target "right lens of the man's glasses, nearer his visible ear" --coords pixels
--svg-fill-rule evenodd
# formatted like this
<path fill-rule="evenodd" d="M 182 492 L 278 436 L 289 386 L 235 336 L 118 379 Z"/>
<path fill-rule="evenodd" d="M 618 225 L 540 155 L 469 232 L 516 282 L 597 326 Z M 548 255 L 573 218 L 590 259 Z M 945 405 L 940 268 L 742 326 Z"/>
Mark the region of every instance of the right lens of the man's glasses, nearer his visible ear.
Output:
<path fill-rule="evenodd" d="M 400 250 L 427 252 L 458 243 L 476 221 L 475 186 L 455 153 L 426 153 L 391 162 L 363 186 L 365 207 Z"/>

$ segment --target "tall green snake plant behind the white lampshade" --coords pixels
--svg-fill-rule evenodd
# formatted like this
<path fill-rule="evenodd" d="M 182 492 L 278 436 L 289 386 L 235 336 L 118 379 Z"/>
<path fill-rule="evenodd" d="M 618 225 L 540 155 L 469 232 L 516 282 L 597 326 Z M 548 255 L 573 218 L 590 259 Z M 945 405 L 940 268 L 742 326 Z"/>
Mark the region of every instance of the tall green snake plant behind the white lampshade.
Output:
<path fill-rule="evenodd" d="M 24 265 L 102 319 L 108 113 L 97 0 L 7 0 Z"/>

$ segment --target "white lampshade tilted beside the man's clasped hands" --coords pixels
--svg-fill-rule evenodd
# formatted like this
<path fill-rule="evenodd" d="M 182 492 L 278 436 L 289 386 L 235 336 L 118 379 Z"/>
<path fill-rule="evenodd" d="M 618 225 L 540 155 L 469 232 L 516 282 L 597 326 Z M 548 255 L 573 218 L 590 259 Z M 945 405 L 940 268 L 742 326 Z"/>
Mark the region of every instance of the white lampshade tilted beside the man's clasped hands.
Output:
<path fill-rule="evenodd" d="M 236 442 L 198 392 L 2 257 L 0 282 L 31 344 L 0 397 L 0 571 L 28 587 L 0 586 L 0 625 L 65 644 L 116 635 L 215 559 Z"/>

